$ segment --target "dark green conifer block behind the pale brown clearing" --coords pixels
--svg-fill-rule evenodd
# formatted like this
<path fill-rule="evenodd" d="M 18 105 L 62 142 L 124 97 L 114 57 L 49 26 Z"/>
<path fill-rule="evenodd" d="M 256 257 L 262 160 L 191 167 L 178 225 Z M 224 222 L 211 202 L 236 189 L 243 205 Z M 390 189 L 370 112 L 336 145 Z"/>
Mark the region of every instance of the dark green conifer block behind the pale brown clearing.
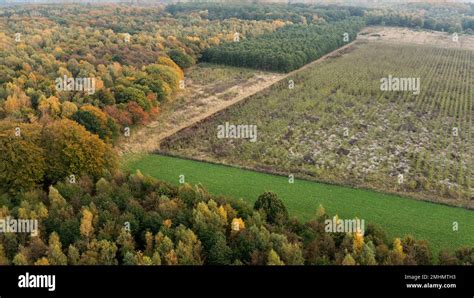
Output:
<path fill-rule="evenodd" d="M 273 33 L 206 49 L 202 60 L 289 72 L 354 40 L 364 24 L 362 18 L 354 17 L 331 24 L 287 25 Z"/>

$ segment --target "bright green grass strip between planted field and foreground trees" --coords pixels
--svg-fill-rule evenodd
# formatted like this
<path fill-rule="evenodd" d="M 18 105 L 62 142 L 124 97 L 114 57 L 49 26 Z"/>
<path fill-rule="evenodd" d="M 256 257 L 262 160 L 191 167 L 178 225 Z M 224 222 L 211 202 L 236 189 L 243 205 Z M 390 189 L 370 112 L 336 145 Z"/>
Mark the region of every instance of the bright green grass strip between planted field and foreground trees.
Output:
<path fill-rule="evenodd" d="M 330 215 L 376 223 L 389 237 L 410 234 L 426 239 L 435 253 L 474 245 L 474 212 L 462 208 L 306 180 L 290 184 L 286 177 L 154 154 L 125 156 L 123 165 L 173 184 L 184 175 L 187 183 L 202 183 L 212 194 L 252 204 L 264 191 L 273 191 L 292 216 L 304 221 L 315 216 L 322 204 Z M 453 222 L 459 225 L 456 232 Z"/>

